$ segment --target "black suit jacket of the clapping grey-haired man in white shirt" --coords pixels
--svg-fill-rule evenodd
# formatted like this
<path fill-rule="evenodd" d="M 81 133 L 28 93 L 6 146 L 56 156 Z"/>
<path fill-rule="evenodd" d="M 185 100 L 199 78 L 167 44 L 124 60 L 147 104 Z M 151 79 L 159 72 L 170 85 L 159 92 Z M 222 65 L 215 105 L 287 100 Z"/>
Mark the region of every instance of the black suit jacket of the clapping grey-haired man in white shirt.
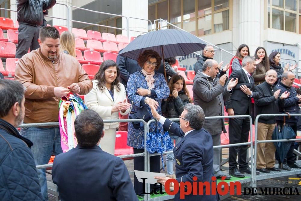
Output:
<path fill-rule="evenodd" d="M 249 83 L 248 77 L 245 74 L 244 70 L 240 69 L 231 73 L 229 80 L 226 83 L 226 86 L 228 86 L 228 83 L 232 78 L 234 78 L 234 80 L 237 78 L 238 83 L 237 86 L 234 89 L 232 89 L 233 92 L 230 99 L 226 101 L 226 108 L 233 108 L 235 115 L 251 114 L 251 98 L 249 98 L 247 94 L 240 90 L 239 86 L 241 86 L 242 84 L 246 84 L 247 87 L 249 87 L 253 93 L 252 98 L 258 99 L 259 93 L 255 92 L 254 78 L 250 76 Z"/>

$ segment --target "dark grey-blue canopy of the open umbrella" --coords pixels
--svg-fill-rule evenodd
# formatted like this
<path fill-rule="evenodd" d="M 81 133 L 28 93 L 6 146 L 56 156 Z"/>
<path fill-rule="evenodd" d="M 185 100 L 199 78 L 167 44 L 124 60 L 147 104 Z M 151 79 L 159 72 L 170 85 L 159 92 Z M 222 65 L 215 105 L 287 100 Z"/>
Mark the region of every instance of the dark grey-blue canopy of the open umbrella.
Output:
<path fill-rule="evenodd" d="M 205 41 L 186 31 L 165 29 L 139 36 L 119 52 L 119 55 L 138 60 L 140 53 L 152 49 L 162 57 L 169 58 L 203 50 L 206 45 Z"/>

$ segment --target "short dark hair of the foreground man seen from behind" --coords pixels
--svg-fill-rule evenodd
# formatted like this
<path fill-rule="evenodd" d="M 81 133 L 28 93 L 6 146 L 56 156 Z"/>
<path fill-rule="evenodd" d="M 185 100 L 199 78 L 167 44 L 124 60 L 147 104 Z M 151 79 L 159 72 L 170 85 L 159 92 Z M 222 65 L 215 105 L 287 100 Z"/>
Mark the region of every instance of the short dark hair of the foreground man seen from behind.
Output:
<path fill-rule="evenodd" d="M 82 147 L 95 146 L 104 130 L 104 121 L 93 110 L 83 110 L 74 121 L 77 142 Z"/>

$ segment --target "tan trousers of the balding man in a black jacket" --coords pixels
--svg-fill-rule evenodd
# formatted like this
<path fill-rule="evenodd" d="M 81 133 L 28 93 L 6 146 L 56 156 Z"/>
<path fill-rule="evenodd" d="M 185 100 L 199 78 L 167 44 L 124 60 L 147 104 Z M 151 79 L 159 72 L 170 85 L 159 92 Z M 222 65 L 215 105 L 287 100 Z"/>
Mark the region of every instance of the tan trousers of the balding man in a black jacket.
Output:
<path fill-rule="evenodd" d="M 258 122 L 258 140 L 272 140 L 272 134 L 276 124 L 264 124 Z M 256 168 L 274 168 L 275 165 L 274 143 L 257 144 Z"/>

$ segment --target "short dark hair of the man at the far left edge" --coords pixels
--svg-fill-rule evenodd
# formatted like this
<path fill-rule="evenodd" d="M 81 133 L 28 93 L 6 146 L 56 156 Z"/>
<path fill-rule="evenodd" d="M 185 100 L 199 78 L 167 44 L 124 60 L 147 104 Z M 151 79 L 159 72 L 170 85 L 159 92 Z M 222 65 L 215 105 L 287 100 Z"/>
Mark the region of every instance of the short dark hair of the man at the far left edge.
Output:
<path fill-rule="evenodd" d="M 0 118 L 8 115 L 11 107 L 18 102 L 22 103 L 25 87 L 18 81 L 0 80 Z"/>

